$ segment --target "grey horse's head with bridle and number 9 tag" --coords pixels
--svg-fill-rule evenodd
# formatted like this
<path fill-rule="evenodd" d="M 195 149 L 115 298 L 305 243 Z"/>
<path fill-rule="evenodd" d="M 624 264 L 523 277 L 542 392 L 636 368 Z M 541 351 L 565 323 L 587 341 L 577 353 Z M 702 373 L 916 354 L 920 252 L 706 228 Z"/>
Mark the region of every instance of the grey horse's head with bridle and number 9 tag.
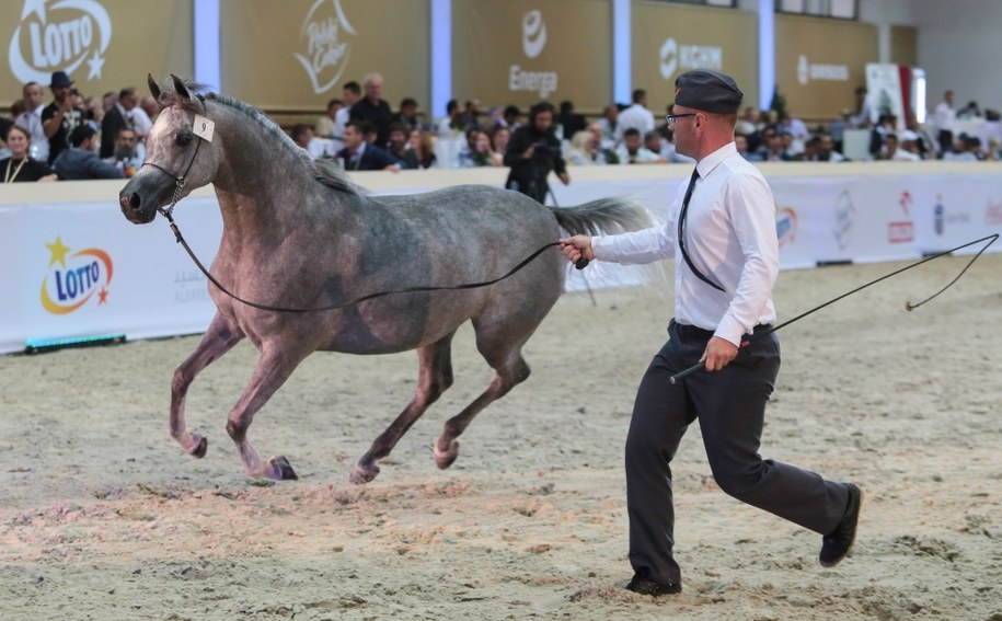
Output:
<path fill-rule="evenodd" d="M 162 110 L 147 136 L 146 162 L 118 194 L 122 212 L 137 225 L 151 222 L 158 209 L 211 183 L 219 165 L 211 127 L 207 131 L 203 123 L 208 117 L 204 97 L 193 96 L 176 76 L 171 79 L 173 90 L 161 91 L 153 77 L 148 78 L 150 93 Z M 196 117 L 201 117 L 198 127 Z"/>

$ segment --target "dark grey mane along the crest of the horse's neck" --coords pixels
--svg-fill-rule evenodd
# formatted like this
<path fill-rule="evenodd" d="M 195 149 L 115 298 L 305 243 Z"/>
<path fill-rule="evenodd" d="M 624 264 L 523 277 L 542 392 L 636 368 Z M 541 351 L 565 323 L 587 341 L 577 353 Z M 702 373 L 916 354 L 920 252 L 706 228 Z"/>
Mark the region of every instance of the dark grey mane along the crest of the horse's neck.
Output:
<path fill-rule="evenodd" d="M 303 149 L 299 145 L 297 145 L 295 141 L 292 141 L 292 138 L 290 138 L 289 135 L 286 134 L 285 130 L 278 126 L 277 123 L 272 120 L 272 118 L 267 114 L 265 114 L 263 111 L 261 111 L 260 108 L 257 108 L 249 103 L 242 102 L 238 99 L 228 96 L 228 95 L 206 92 L 206 91 L 208 91 L 208 88 L 205 84 L 185 81 L 184 85 L 193 94 L 205 92 L 204 96 L 206 99 L 212 100 L 227 107 L 237 110 L 237 111 L 245 114 L 246 116 L 251 117 L 267 134 L 272 135 L 278 141 L 278 143 L 281 145 L 281 148 L 286 149 L 290 154 L 293 154 L 299 158 L 301 158 L 303 154 L 306 154 L 306 151 L 303 151 Z M 183 97 L 183 96 L 178 95 L 177 92 L 174 91 L 173 89 L 171 89 L 169 85 L 166 88 L 164 88 L 164 87 L 161 88 L 159 103 L 163 107 L 166 107 L 170 105 L 177 105 L 184 110 L 188 110 L 192 112 L 196 112 L 196 113 L 204 112 L 203 104 L 198 100 L 198 96 L 195 96 L 192 99 Z M 355 182 L 353 182 L 350 179 L 348 179 L 348 175 L 345 174 L 344 170 L 342 170 L 341 166 L 335 164 L 333 160 L 314 160 L 313 158 L 309 158 L 308 165 L 313 169 L 314 179 L 318 182 L 322 183 L 323 185 L 326 185 L 327 187 L 332 187 L 339 192 L 344 192 L 346 194 L 353 194 L 356 196 L 362 195 L 361 188 L 358 185 L 356 185 Z"/>

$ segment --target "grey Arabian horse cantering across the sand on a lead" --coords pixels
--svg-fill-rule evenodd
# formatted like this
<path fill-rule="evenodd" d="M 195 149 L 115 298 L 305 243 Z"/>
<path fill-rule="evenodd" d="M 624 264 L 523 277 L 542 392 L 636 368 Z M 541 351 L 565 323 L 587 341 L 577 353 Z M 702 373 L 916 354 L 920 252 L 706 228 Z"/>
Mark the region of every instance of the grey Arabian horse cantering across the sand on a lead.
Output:
<path fill-rule="evenodd" d="M 243 300 L 318 309 L 378 291 L 482 283 L 555 242 L 561 228 L 578 233 L 646 225 L 643 209 L 622 199 L 554 209 L 487 186 L 368 196 L 333 163 L 312 160 L 261 111 L 203 95 L 200 87 L 175 76 L 162 87 L 151 77 L 149 84 L 163 110 L 148 138 L 148 163 L 120 193 L 122 211 L 131 222 L 148 223 L 168 204 L 173 207 L 193 188 L 211 183 L 223 232 L 210 272 Z M 195 127 L 196 115 L 201 127 Z M 215 126 L 211 137 L 201 131 L 203 118 Z M 352 471 L 354 483 L 367 483 L 379 473 L 377 462 L 452 383 L 450 345 L 469 320 L 477 350 L 497 375 L 446 423 L 435 461 L 448 468 L 459 451 L 456 438 L 473 417 L 529 377 L 522 345 L 560 297 L 566 269 L 557 250 L 545 251 L 488 287 L 387 295 L 318 312 L 261 310 L 210 286 L 218 312 L 174 371 L 171 437 L 189 455 L 205 455 L 206 438 L 185 423 L 185 395 L 203 369 L 246 337 L 261 357 L 229 413 L 227 432 L 249 475 L 296 479 L 284 457 L 263 460 L 247 439 L 254 414 L 296 367 L 318 349 L 416 349 L 421 367 L 414 398 Z"/>

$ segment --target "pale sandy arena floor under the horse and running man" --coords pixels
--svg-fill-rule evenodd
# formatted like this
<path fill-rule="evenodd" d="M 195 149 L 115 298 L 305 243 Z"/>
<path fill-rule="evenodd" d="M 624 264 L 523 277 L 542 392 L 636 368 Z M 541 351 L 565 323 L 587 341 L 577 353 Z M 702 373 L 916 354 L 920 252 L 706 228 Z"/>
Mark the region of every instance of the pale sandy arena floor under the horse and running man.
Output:
<path fill-rule="evenodd" d="M 940 260 L 784 329 L 763 457 L 857 482 L 855 553 L 724 495 L 694 425 L 673 463 L 684 593 L 630 576 L 622 469 L 634 390 L 665 337 L 667 287 L 566 295 L 529 342 L 533 375 L 438 471 L 441 425 L 490 381 L 472 331 L 456 386 L 365 487 L 347 475 L 410 399 L 413 353 L 318 354 L 251 437 L 298 482 L 249 480 L 224 432 L 244 343 L 193 384 L 205 459 L 166 435 L 196 337 L 0 357 L 4 620 L 1002 620 L 1002 254 L 954 288 Z M 781 319 L 900 264 L 787 272 Z"/>

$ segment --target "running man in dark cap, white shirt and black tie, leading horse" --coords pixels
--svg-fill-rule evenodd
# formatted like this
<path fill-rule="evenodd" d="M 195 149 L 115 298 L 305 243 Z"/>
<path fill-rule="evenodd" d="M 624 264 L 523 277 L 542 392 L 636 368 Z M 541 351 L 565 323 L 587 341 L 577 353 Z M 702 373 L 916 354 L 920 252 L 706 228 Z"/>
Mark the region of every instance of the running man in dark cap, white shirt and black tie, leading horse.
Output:
<path fill-rule="evenodd" d="M 838 564 L 855 539 L 855 485 L 759 456 L 765 402 L 780 369 L 772 288 L 779 274 L 775 203 L 765 179 L 734 143 L 742 99 L 734 80 L 695 70 L 676 80 L 668 126 L 696 160 L 668 221 L 643 231 L 561 240 L 572 262 L 676 260 L 669 341 L 641 382 L 626 438 L 626 505 L 634 593 L 681 593 L 672 555 L 671 470 L 689 424 L 700 422 L 713 476 L 745 503 L 822 536 L 819 561 Z M 682 192 L 684 189 L 684 192 Z M 675 383 L 676 373 L 703 370 Z"/>

